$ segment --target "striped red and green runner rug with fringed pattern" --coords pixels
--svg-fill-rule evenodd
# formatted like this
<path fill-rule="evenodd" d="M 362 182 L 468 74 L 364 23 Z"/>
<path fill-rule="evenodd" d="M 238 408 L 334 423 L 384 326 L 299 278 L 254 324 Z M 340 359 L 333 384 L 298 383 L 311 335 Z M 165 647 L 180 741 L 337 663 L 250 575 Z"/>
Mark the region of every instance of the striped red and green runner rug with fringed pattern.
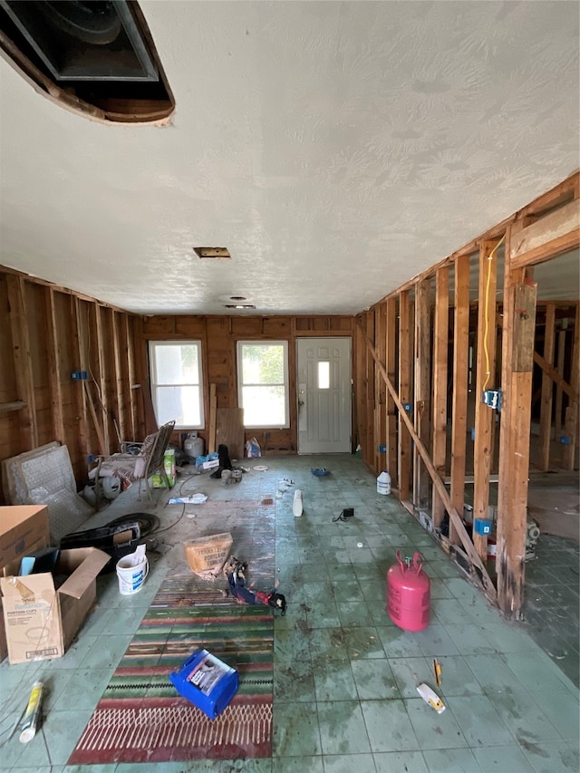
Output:
<path fill-rule="evenodd" d="M 273 558 L 273 540 L 268 547 Z M 215 720 L 168 677 L 201 648 L 239 675 L 237 694 Z M 268 607 L 237 604 L 189 571 L 168 575 L 67 764 L 271 757 L 273 648 Z"/>

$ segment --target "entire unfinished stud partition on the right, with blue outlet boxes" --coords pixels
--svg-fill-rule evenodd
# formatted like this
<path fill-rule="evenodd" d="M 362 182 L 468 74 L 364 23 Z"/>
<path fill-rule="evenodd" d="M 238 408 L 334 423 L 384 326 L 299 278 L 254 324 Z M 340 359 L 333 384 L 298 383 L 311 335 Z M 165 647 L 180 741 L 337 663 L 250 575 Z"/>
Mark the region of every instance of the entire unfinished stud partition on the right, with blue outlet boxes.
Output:
<path fill-rule="evenodd" d="M 579 202 L 575 174 L 356 320 L 363 459 L 375 473 L 389 470 L 411 514 L 515 616 L 523 598 L 535 369 L 537 468 L 577 464 L 578 288 L 570 288 L 569 301 L 538 304 L 534 266 L 578 248 Z M 473 518 L 488 519 L 492 478 L 495 565 L 488 536 L 468 533 L 462 518 L 469 484 Z"/>

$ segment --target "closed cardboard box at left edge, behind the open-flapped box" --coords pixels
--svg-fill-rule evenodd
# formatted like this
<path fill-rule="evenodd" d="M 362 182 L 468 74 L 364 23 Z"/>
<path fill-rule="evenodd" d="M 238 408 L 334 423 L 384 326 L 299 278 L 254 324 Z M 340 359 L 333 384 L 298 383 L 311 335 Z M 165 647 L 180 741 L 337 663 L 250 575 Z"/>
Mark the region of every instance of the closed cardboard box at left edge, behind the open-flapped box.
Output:
<path fill-rule="evenodd" d="M 48 507 L 45 505 L 0 507 L 0 574 L 5 574 L 7 565 L 19 562 L 23 556 L 46 547 L 49 542 Z M 4 615 L 0 600 L 0 662 L 7 654 Z"/>

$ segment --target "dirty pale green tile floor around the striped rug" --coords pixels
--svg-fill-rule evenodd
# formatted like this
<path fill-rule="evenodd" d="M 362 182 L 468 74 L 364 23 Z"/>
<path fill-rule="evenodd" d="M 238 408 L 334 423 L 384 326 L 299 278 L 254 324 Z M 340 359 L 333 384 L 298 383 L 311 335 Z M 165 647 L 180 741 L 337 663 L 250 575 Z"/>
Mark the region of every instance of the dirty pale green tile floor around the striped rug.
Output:
<path fill-rule="evenodd" d="M 258 460 L 246 460 L 253 467 Z M 519 624 L 507 623 L 469 584 L 422 528 L 353 456 L 260 459 L 236 486 L 207 475 L 180 478 L 171 492 L 203 491 L 211 499 L 272 497 L 275 572 L 289 602 L 275 620 L 272 759 L 219 763 L 87 766 L 93 773 L 256 771 L 256 773 L 558 773 L 579 769 L 578 691 Z M 331 474 L 315 478 L 314 467 Z M 283 478 L 295 485 L 277 490 Z M 293 517 L 295 488 L 304 515 Z M 27 665 L 0 664 L 1 768 L 61 773 L 105 684 L 160 585 L 185 562 L 182 542 L 223 523 L 204 522 L 203 506 L 156 509 L 132 487 L 87 524 L 136 511 L 160 516 L 158 553 L 139 594 L 121 596 L 116 575 L 99 578 L 98 604 L 64 657 Z M 343 507 L 354 517 L 334 522 Z M 188 516 L 193 515 L 196 517 Z M 185 516 L 185 517 L 183 517 Z M 228 525 L 229 527 L 229 525 Z M 546 551 L 548 550 L 546 543 Z M 384 611 L 385 575 L 395 552 L 420 550 L 431 578 L 431 623 L 406 633 Z M 549 552 L 549 551 L 548 551 Z M 250 562 L 252 556 L 244 556 Z M 157 559 L 157 560 L 155 560 Z M 539 565 L 538 565 L 539 566 Z M 577 567 L 576 567 L 577 568 Z M 570 576 L 577 592 L 577 575 Z M 573 600 L 573 598 L 572 598 Z M 546 617 L 546 640 L 557 616 Z M 577 631 L 576 642 L 577 651 Z M 437 714 L 416 692 L 433 685 L 442 666 Z M 8 739 L 34 679 L 45 682 L 43 726 L 23 745 Z"/>

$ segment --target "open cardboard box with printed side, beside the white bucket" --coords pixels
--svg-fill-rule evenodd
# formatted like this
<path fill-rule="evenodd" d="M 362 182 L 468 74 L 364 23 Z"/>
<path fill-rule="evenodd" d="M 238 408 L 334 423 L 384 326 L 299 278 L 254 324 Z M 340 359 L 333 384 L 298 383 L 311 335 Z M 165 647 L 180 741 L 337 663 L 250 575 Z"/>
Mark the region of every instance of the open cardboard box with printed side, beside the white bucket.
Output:
<path fill-rule="evenodd" d="M 96 578 L 109 556 L 96 547 L 61 550 L 55 576 L 10 575 L 0 578 L 5 635 L 11 663 L 62 658 L 96 596 Z M 18 571 L 18 562 L 9 567 Z"/>

